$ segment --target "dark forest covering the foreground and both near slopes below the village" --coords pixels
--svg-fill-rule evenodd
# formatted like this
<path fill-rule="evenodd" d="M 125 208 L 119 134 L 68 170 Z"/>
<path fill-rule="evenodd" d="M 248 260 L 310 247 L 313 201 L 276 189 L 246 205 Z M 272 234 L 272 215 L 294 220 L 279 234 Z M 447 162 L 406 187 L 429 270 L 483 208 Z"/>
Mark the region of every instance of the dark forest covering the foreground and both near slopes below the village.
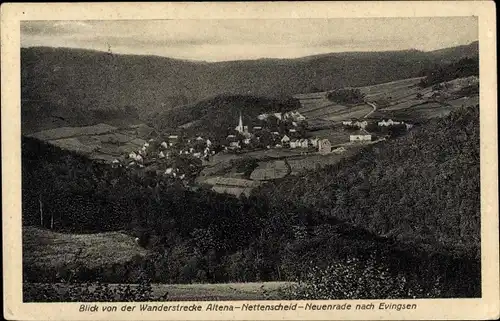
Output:
<path fill-rule="evenodd" d="M 22 144 L 23 224 L 125 230 L 150 249 L 130 265 L 74 268 L 77 281 L 136 282 L 141 269 L 163 283 L 310 285 L 326 273 L 320 297 L 481 295 L 478 107 L 239 199 L 111 168 L 34 139 Z M 25 281 L 70 273 L 23 268 Z M 354 275 L 385 292 L 371 285 L 352 292 Z M 307 289 L 292 295 L 307 297 Z"/>

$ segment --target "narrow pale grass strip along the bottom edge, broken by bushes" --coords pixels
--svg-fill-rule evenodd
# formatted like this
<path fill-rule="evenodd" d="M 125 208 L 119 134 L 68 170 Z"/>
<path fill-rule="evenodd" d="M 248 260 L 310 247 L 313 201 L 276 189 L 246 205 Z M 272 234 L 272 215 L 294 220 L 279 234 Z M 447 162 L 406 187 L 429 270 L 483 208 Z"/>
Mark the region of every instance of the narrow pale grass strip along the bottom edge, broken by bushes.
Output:
<path fill-rule="evenodd" d="M 265 300 L 280 299 L 279 290 L 292 285 L 292 282 L 249 282 L 249 283 L 219 283 L 219 284 L 152 284 L 154 297 L 168 293 L 166 301 L 231 301 L 231 300 Z M 48 284 L 25 283 L 25 291 L 37 291 Z M 121 284 L 122 286 L 124 284 Z M 129 284 L 127 284 L 129 285 Z M 61 295 L 68 291 L 68 284 L 51 284 Z M 72 287 L 87 288 L 94 291 L 95 285 L 71 284 Z M 137 284 L 130 284 L 131 288 Z M 111 290 L 118 288 L 117 284 L 109 284 Z"/>

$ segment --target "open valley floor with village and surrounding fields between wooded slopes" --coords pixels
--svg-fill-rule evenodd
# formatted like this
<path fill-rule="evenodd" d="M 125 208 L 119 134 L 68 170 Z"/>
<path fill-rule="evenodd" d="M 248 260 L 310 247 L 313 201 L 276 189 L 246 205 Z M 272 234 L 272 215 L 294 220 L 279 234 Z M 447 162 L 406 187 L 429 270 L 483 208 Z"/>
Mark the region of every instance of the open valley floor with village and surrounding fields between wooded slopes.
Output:
<path fill-rule="evenodd" d="M 297 94 L 298 109 L 271 105 L 252 114 L 251 105 L 234 107 L 226 119 L 232 126 L 204 133 L 140 123 L 61 127 L 30 136 L 187 188 L 249 196 L 267 181 L 336 164 L 363 146 L 405 135 L 420 121 L 478 103 L 476 76 L 427 87 L 422 79 Z"/>

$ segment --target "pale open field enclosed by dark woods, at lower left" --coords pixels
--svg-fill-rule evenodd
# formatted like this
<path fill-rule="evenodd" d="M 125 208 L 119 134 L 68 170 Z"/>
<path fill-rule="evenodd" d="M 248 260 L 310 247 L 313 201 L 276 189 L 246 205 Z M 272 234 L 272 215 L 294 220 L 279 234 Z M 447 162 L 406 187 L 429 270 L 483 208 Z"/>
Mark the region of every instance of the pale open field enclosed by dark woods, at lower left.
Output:
<path fill-rule="evenodd" d="M 132 236 L 120 232 L 65 234 L 23 227 L 23 262 L 27 266 L 58 268 L 77 263 L 96 268 L 126 263 L 146 253 Z"/>

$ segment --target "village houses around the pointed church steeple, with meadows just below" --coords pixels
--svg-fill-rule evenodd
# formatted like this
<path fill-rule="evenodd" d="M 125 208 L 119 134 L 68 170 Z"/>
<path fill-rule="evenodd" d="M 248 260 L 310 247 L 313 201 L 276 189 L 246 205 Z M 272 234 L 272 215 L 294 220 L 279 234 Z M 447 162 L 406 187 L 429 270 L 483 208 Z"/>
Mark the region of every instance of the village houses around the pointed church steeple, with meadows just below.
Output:
<path fill-rule="evenodd" d="M 348 150 L 389 138 L 387 129 L 403 126 L 409 130 L 413 126 L 392 119 L 345 120 L 330 130 L 347 133 L 348 140 L 332 142 L 327 135 L 309 131 L 306 117 L 298 111 L 260 114 L 248 120 L 250 126 L 240 112 L 235 123 L 219 140 L 183 133 L 157 135 L 144 140 L 137 150 L 115 158 L 112 164 L 154 171 L 186 186 L 200 183 L 216 192 L 248 196 L 264 181 L 333 164 L 344 154 L 352 154 L 346 153 Z M 369 125 L 377 127 L 377 134 L 367 130 Z M 245 175 L 238 171 L 238 160 L 252 164 L 251 172 Z"/>

